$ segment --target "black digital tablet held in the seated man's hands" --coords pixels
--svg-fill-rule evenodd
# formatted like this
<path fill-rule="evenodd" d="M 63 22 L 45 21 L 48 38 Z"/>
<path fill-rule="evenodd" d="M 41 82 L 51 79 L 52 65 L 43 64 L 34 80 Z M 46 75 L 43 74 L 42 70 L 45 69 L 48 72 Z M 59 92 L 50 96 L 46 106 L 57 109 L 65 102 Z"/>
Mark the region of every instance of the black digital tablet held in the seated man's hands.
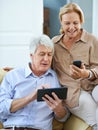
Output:
<path fill-rule="evenodd" d="M 61 88 L 45 88 L 45 89 L 38 89 L 37 91 L 37 101 L 44 101 L 42 97 L 44 97 L 45 94 L 48 94 L 50 97 L 53 98 L 52 92 L 54 92 L 60 99 L 66 99 L 67 97 L 67 88 L 61 87 Z"/>

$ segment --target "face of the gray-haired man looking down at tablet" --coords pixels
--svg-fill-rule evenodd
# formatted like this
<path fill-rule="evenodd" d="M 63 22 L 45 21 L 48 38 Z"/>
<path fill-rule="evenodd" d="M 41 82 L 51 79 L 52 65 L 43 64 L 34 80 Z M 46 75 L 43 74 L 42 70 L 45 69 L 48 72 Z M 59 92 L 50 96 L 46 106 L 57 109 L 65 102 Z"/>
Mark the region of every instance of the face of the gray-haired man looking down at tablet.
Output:
<path fill-rule="evenodd" d="M 31 54 L 32 71 L 35 75 L 44 74 L 51 66 L 53 52 L 49 47 L 39 45 L 35 54 Z"/>

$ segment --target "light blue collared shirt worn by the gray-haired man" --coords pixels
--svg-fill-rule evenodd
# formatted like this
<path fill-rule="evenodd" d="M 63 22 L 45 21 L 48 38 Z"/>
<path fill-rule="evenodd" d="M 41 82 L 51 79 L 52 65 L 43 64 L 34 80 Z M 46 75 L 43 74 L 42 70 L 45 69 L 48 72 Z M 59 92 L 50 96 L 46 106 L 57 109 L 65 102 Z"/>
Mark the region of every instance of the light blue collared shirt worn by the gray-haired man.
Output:
<path fill-rule="evenodd" d="M 52 69 L 39 77 L 32 73 L 29 66 L 13 69 L 6 74 L 0 86 L 0 120 L 4 127 L 34 126 L 52 130 L 53 112 L 45 102 L 35 100 L 14 113 L 10 112 L 14 99 L 29 95 L 44 84 L 51 88 L 60 87 L 56 73 Z"/>

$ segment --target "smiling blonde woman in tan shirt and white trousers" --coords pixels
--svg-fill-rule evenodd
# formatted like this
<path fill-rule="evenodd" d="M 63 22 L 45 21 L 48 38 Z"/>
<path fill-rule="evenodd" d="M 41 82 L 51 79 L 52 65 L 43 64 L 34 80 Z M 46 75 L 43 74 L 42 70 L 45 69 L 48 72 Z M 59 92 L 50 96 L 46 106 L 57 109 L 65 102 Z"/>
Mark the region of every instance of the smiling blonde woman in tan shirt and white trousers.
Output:
<path fill-rule="evenodd" d="M 92 90 L 98 84 L 98 39 L 82 28 L 84 14 L 75 3 L 64 5 L 59 12 L 61 34 L 53 37 L 53 69 L 60 83 L 68 87 L 66 106 L 95 130 L 96 103 Z M 82 62 L 81 67 L 73 65 Z"/>

